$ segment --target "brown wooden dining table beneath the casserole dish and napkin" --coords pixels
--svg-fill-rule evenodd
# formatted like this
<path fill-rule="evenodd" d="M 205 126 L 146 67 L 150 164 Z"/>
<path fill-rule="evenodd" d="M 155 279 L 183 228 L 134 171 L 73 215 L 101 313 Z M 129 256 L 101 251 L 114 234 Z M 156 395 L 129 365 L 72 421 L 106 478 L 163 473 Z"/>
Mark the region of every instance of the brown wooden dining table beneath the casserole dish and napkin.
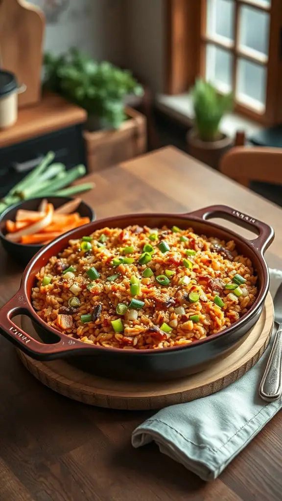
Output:
<path fill-rule="evenodd" d="M 268 265 L 282 269 L 282 209 L 176 148 L 89 176 L 83 195 L 97 218 L 226 204 L 274 227 Z M 83 180 L 85 182 L 85 179 Z M 222 224 L 235 227 L 226 221 Z M 245 230 L 237 231 L 248 236 Z M 23 268 L 0 249 L 0 306 Z M 0 339 L 0 501 L 272 501 L 282 498 L 282 423 L 277 413 L 216 480 L 206 483 L 155 444 L 133 449 L 131 432 L 154 412 L 70 400 L 38 382 Z"/>

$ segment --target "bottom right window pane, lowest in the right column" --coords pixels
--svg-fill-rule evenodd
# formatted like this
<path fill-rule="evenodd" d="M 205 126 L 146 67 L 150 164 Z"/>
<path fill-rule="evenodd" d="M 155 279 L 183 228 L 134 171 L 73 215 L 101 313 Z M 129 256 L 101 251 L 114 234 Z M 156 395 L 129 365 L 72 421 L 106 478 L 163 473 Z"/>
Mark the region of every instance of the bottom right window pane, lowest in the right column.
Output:
<path fill-rule="evenodd" d="M 265 67 L 242 58 L 237 65 L 237 100 L 262 112 L 265 108 Z"/>

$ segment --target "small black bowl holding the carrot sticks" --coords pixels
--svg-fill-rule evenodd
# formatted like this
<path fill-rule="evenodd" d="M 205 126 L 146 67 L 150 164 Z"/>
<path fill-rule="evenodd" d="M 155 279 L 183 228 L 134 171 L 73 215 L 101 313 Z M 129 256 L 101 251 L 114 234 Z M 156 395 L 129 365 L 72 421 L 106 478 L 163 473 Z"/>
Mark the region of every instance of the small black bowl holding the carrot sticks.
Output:
<path fill-rule="evenodd" d="M 54 208 L 57 209 L 61 205 L 66 202 L 69 202 L 73 198 L 67 196 L 49 196 L 48 202 L 54 205 Z M 2 241 L 2 245 L 5 248 L 6 252 L 15 259 L 18 263 L 26 266 L 29 261 L 34 257 L 34 255 L 44 246 L 42 244 L 32 244 L 26 245 L 23 243 L 11 242 L 6 238 L 6 221 L 11 219 L 15 221 L 16 213 L 19 209 L 25 210 L 38 210 L 39 204 L 42 200 L 40 198 L 31 198 L 30 200 L 25 200 L 24 202 L 16 203 L 6 209 L 0 216 L 0 240 Z M 80 202 L 79 206 L 76 209 L 76 212 L 82 217 L 89 217 L 90 221 L 95 221 L 96 215 L 93 209 L 85 202 Z"/>

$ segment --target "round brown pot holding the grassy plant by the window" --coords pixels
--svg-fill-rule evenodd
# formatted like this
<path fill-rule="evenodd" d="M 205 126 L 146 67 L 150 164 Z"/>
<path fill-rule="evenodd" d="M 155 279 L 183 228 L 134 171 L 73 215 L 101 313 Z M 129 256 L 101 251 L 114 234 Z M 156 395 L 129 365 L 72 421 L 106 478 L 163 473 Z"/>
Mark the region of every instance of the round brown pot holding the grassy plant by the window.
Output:
<path fill-rule="evenodd" d="M 191 129 L 187 133 L 187 142 L 189 155 L 214 169 L 218 169 L 221 156 L 231 148 L 233 140 L 222 134 L 222 138 L 218 141 L 202 141 L 196 130 Z"/>

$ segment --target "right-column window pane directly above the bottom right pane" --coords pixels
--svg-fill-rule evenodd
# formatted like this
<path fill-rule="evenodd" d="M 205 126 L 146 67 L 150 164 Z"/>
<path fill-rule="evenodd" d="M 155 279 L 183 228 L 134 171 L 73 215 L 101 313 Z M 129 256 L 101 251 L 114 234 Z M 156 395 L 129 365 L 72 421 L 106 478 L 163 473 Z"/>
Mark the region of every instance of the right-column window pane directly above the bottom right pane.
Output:
<path fill-rule="evenodd" d="M 239 16 L 239 47 L 268 54 L 269 14 L 241 6 Z"/>

